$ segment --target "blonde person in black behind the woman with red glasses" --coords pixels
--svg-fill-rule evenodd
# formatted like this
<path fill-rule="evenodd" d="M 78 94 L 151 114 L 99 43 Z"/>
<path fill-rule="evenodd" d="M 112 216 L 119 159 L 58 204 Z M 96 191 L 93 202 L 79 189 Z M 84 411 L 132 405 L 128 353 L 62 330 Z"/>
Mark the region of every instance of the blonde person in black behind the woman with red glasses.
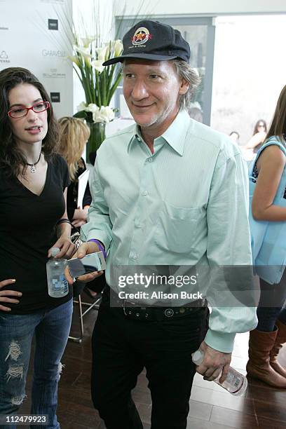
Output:
<path fill-rule="evenodd" d="M 86 163 L 81 155 L 90 136 L 90 129 L 81 119 L 71 116 L 60 118 L 58 123 L 60 125 L 59 153 L 67 161 L 69 168 L 70 184 L 67 187 L 67 217 L 73 226 L 72 234 L 79 231 L 81 226 L 86 224 L 88 208 L 91 203 L 90 187 L 87 183 L 83 195 L 83 208 L 77 206 L 79 176 L 86 171 Z M 97 293 L 102 291 L 104 284 L 104 275 L 90 282 L 88 287 L 85 287 L 81 282 L 76 282 L 74 284 L 74 297 L 81 293 L 84 288 L 91 298 L 95 298 Z"/>

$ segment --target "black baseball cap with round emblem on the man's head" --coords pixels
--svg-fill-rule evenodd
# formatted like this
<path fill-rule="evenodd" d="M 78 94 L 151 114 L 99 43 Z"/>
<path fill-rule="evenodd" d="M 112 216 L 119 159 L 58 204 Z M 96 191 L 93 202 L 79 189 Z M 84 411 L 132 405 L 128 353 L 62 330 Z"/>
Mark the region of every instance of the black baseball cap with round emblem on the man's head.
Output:
<path fill-rule="evenodd" d="M 177 29 L 158 21 L 143 20 L 123 36 L 123 52 L 120 57 L 111 58 L 103 65 L 123 62 L 128 58 L 154 61 L 181 58 L 189 62 L 190 55 L 189 43 Z"/>

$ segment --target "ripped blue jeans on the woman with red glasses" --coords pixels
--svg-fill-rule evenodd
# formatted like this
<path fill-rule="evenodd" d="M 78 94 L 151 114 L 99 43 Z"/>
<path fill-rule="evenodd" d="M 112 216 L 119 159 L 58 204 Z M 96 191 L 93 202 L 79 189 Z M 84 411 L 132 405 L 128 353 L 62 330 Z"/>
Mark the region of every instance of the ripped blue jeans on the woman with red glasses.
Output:
<path fill-rule="evenodd" d="M 60 360 L 71 326 L 72 299 L 50 311 L 24 315 L 0 312 L 0 414 L 16 414 L 25 398 L 32 338 L 35 337 L 31 414 L 48 414 L 46 429 L 57 423 Z M 15 429 L 1 425 L 1 429 Z M 33 425 L 32 428 L 43 428 Z"/>

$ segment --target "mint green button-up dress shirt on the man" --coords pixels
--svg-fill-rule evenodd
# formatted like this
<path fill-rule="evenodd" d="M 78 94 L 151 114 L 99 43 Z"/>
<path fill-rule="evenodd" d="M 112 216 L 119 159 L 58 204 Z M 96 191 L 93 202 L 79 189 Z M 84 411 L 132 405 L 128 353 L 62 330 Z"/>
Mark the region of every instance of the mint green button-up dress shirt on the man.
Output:
<path fill-rule="evenodd" d="M 112 264 L 252 264 L 240 149 L 186 111 L 154 140 L 154 154 L 137 125 L 108 137 L 97 151 L 90 191 L 81 236 L 97 238 L 109 250 L 106 278 L 114 290 Z M 217 306 L 205 342 L 231 352 L 236 333 L 256 325 L 254 307 Z"/>

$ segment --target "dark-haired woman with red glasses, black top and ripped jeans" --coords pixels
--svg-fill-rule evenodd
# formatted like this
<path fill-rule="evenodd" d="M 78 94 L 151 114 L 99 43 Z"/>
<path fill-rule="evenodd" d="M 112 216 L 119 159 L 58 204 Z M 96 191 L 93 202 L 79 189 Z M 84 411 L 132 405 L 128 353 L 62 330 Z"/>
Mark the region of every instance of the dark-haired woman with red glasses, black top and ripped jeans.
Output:
<path fill-rule="evenodd" d="M 0 415 L 15 414 L 25 398 L 34 337 L 31 414 L 48 416 L 39 423 L 53 429 L 60 428 L 57 382 L 72 299 L 71 291 L 48 295 L 46 262 L 52 247 L 60 248 L 57 258 L 74 253 L 70 226 L 60 222 L 67 218 L 69 172 L 57 140 L 38 79 L 20 67 L 0 71 Z"/>

